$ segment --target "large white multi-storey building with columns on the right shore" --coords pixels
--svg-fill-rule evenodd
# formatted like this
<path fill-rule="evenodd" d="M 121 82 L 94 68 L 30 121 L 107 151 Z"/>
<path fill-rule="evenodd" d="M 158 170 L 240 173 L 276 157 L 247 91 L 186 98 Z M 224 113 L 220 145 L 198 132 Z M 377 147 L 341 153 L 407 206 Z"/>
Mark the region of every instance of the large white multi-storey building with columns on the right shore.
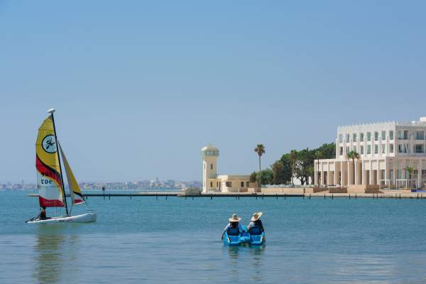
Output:
<path fill-rule="evenodd" d="M 426 117 L 411 122 L 339 126 L 336 158 L 315 160 L 315 185 L 347 188 L 425 187 Z M 359 158 L 348 159 L 356 151 Z M 411 178 L 407 168 L 413 167 Z"/>

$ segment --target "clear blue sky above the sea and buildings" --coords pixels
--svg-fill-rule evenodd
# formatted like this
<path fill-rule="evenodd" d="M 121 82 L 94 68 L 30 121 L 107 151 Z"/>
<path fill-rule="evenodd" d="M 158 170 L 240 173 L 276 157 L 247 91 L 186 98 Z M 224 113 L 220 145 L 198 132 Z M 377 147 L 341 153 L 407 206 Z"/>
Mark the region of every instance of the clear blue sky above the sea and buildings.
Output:
<path fill-rule="evenodd" d="M 201 180 L 426 116 L 425 1 L 1 1 L 0 182 L 57 109 L 80 181 Z"/>

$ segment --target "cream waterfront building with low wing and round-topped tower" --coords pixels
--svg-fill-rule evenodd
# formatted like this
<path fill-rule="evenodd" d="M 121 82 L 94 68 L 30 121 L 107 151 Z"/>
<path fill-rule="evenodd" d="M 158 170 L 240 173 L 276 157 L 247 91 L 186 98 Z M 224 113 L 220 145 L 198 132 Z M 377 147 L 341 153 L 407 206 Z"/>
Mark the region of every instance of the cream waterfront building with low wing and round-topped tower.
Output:
<path fill-rule="evenodd" d="M 201 149 L 202 193 L 207 192 L 247 192 L 250 187 L 249 175 L 217 175 L 219 150 L 212 146 Z"/>

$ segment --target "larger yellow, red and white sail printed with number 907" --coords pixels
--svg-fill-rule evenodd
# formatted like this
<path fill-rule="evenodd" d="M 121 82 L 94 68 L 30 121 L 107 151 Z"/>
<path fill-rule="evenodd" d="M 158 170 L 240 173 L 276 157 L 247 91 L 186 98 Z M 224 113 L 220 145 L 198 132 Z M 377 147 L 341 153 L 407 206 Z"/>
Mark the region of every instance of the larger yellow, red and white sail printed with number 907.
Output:
<path fill-rule="evenodd" d="M 43 121 L 35 141 L 35 168 L 40 206 L 62 207 L 64 196 L 52 116 Z"/>

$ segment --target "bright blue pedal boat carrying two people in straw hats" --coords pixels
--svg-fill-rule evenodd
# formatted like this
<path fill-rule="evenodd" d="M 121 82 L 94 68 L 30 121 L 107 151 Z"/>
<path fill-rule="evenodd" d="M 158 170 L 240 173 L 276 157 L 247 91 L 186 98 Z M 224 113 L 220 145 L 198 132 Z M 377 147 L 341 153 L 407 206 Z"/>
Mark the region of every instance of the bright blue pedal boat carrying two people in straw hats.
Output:
<path fill-rule="evenodd" d="M 262 246 L 266 242 L 265 232 L 260 228 L 253 226 L 250 232 L 247 231 L 246 226 L 244 231 L 240 232 L 238 228 L 229 228 L 224 232 L 222 241 L 225 246 L 239 246 L 249 244 L 251 246 Z"/>

